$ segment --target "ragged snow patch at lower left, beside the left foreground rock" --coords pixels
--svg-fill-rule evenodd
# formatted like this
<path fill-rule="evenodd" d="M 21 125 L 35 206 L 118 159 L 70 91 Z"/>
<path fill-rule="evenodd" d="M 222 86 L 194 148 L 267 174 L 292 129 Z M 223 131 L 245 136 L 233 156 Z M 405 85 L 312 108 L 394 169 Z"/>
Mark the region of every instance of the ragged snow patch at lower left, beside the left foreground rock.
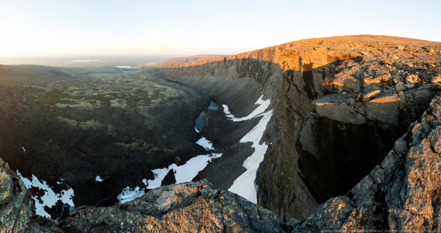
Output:
<path fill-rule="evenodd" d="M 62 203 L 74 207 L 74 201 L 72 201 L 74 197 L 74 190 L 72 190 L 72 188 L 69 188 L 68 190 L 61 190 L 61 192 L 57 194 L 54 192 L 54 190 L 52 190 L 52 188 L 49 187 L 46 181 L 39 181 L 37 176 L 34 174 L 32 174 L 32 178 L 29 179 L 21 176 L 21 173 L 19 170 L 17 170 L 17 175 L 20 177 L 21 181 L 23 181 L 27 189 L 37 187 L 44 191 L 44 195 L 41 196 L 41 202 L 37 199 L 37 196 L 32 196 L 32 199 L 35 201 L 36 214 L 50 219 L 50 214 L 45 212 L 44 207 L 52 207 L 57 203 L 57 201 L 61 201 Z M 62 182 L 57 181 L 57 184 L 61 183 Z"/>

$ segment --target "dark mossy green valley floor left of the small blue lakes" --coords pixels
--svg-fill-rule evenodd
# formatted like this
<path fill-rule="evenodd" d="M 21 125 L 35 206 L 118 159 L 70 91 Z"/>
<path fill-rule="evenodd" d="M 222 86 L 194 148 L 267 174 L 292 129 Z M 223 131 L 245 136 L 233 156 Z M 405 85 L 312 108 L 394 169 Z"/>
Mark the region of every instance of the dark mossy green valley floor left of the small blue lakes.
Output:
<path fill-rule="evenodd" d="M 209 97 L 149 70 L 0 67 L 0 90 L 0 156 L 24 176 L 64 179 L 76 205 L 205 152 L 194 119 Z"/>

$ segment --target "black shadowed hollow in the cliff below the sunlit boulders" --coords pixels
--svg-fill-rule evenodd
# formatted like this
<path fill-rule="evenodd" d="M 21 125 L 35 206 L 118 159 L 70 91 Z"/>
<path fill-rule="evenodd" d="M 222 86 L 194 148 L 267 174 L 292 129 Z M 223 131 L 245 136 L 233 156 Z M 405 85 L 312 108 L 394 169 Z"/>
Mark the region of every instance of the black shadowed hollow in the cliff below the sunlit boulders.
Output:
<path fill-rule="evenodd" d="M 406 130 L 378 121 L 356 125 L 312 115 L 296 143 L 302 179 L 318 203 L 344 195 L 381 163 Z"/>

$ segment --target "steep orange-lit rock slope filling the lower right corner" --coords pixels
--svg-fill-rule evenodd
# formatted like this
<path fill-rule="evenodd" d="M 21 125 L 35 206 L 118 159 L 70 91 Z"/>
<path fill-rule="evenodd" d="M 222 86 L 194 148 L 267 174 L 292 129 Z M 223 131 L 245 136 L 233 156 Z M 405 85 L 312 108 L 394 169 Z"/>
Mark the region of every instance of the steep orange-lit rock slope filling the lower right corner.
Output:
<path fill-rule="evenodd" d="M 329 199 L 294 232 L 440 230 L 441 97 L 346 196 Z"/>

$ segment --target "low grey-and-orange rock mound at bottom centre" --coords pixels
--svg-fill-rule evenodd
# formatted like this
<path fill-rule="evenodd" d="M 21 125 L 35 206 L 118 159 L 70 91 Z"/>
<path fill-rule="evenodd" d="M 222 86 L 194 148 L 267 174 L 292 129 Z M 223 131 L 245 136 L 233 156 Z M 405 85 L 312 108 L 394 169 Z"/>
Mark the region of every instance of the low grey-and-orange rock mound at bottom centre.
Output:
<path fill-rule="evenodd" d="M 273 212 L 207 181 L 162 186 L 112 207 L 76 207 L 68 232 L 282 232 Z"/>

